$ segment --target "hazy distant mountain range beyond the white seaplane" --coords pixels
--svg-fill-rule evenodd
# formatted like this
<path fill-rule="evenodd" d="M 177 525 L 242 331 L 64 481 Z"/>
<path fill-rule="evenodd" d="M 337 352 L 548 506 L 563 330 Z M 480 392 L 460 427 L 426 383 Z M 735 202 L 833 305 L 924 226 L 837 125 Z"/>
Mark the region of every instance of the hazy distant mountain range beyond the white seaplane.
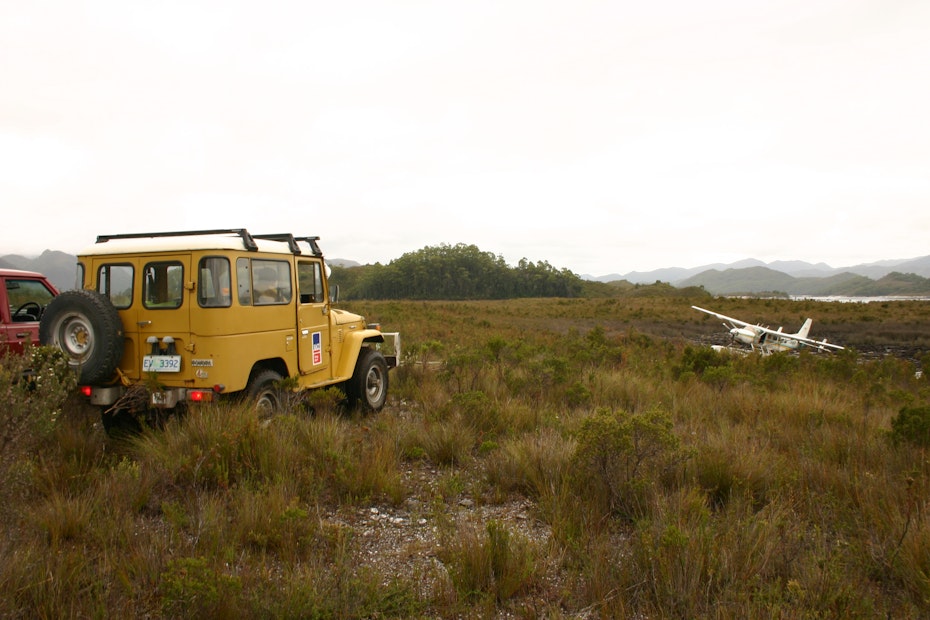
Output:
<path fill-rule="evenodd" d="M 676 287 L 702 286 L 715 295 L 781 292 L 808 296 L 930 295 L 930 256 L 835 268 L 825 263 L 747 259 L 685 269 L 632 271 L 600 277 L 598 282 L 632 284 L 667 282 Z"/>

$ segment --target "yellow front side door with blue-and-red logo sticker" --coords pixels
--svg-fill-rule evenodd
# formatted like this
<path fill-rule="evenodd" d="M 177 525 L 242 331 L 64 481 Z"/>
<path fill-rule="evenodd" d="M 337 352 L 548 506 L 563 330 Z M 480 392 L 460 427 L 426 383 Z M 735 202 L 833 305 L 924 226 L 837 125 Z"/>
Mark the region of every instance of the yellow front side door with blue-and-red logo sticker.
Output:
<path fill-rule="evenodd" d="M 300 374 L 318 375 L 322 381 L 329 377 L 332 368 L 329 304 L 326 299 L 322 259 L 297 260 L 297 287 L 297 348 Z"/>

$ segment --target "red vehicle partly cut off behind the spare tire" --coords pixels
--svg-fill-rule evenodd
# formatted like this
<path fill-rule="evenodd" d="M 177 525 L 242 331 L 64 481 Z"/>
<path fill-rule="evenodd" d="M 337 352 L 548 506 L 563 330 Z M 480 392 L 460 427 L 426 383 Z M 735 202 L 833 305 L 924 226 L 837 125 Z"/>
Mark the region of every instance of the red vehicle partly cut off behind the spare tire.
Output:
<path fill-rule="evenodd" d="M 39 319 L 56 295 L 58 289 L 41 273 L 0 269 L 0 354 L 39 344 Z"/>

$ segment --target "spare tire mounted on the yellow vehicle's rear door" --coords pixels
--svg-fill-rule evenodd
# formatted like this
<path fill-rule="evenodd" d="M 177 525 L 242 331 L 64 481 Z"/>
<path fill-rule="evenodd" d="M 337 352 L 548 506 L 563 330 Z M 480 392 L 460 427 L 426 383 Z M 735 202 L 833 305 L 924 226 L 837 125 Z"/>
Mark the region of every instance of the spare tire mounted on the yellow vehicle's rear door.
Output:
<path fill-rule="evenodd" d="M 123 323 L 107 297 L 95 291 L 65 291 L 53 298 L 39 323 L 39 342 L 61 349 L 78 382 L 102 383 L 123 358 Z"/>

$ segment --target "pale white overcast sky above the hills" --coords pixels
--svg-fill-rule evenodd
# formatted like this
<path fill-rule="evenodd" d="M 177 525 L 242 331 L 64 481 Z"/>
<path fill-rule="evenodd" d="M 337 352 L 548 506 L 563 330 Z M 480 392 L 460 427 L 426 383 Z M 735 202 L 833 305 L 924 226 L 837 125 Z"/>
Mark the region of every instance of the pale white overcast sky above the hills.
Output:
<path fill-rule="evenodd" d="M 930 254 L 930 2 L 0 0 L 0 255 L 246 227 L 578 274 Z"/>

